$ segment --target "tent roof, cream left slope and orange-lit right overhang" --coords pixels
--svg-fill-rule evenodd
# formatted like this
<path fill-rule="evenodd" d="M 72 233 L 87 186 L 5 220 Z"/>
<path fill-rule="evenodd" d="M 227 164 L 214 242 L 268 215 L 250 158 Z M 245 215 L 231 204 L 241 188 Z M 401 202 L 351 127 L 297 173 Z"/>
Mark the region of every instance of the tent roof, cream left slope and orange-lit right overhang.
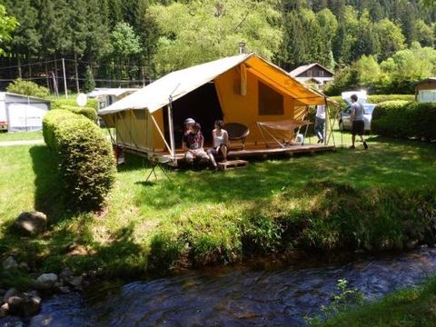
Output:
<path fill-rule="evenodd" d="M 148 109 L 150 113 L 154 113 L 169 104 L 170 95 L 173 100 L 177 100 L 242 63 L 247 65 L 251 73 L 299 103 L 324 104 L 323 94 L 296 81 L 282 68 L 263 60 L 257 54 L 239 54 L 166 74 L 134 94 L 100 110 L 99 114 L 114 114 L 129 109 Z"/>

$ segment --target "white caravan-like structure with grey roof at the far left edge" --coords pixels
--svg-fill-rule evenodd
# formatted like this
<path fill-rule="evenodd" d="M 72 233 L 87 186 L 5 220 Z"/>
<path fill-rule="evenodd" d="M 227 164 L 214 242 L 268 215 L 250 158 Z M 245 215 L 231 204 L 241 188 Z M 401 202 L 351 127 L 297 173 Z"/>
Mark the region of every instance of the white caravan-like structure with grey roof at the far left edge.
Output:
<path fill-rule="evenodd" d="M 9 132 L 41 131 L 50 101 L 21 94 L 0 93 L 0 110 L 5 111 Z"/>

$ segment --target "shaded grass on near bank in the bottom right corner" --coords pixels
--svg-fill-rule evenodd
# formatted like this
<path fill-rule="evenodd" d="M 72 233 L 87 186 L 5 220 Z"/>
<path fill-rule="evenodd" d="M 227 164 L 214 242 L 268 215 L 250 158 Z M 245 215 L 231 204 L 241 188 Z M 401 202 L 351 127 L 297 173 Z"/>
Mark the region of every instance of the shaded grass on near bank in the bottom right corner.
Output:
<path fill-rule="evenodd" d="M 435 326 L 436 278 L 415 289 L 395 292 L 357 310 L 341 312 L 313 326 Z"/>

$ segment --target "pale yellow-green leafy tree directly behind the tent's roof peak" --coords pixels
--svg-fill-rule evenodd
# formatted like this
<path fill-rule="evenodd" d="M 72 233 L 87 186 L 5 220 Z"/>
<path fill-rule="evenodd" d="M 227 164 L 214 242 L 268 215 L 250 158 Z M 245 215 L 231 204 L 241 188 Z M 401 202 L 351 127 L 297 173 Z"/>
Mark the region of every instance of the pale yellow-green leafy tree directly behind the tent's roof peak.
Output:
<path fill-rule="evenodd" d="M 278 1 L 204 0 L 152 5 L 161 37 L 154 64 L 158 73 L 237 54 L 239 42 L 272 58 L 281 41 Z"/>

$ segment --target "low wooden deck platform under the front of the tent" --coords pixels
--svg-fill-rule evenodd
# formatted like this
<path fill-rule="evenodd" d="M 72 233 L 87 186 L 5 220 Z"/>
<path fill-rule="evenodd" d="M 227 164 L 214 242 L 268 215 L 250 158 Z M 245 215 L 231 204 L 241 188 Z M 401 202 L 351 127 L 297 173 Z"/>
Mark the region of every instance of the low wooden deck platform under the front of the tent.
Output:
<path fill-rule="evenodd" d="M 173 162 L 171 154 L 168 152 L 154 152 L 151 153 L 146 150 L 141 150 L 129 146 L 125 146 L 124 150 L 129 153 L 138 154 L 146 157 L 153 157 L 154 160 L 159 161 L 161 163 L 168 163 L 172 165 L 177 165 L 177 161 L 183 160 L 184 153 L 181 149 L 176 150 L 175 154 L 175 162 Z M 286 147 L 279 147 L 277 144 L 268 144 L 268 147 L 265 144 L 257 144 L 257 145 L 246 145 L 244 149 L 231 149 L 227 154 L 228 159 L 240 159 L 247 157 L 266 157 L 268 155 L 277 155 L 277 154 L 302 154 L 309 153 L 315 154 L 317 152 L 322 151 L 332 151 L 334 150 L 334 145 L 323 145 L 323 144 L 303 144 L 303 145 L 289 145 Z"/>

